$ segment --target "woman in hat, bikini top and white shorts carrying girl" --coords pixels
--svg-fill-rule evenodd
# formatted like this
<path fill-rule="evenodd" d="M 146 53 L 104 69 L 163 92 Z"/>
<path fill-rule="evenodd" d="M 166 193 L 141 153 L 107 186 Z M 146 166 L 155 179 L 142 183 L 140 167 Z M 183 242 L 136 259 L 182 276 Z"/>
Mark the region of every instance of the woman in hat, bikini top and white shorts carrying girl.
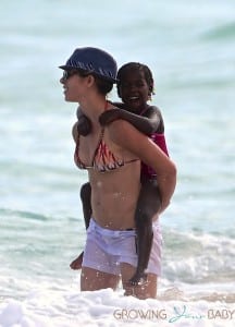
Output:
<path fill-rule="evenodd" d="M 99 117 L 115 107 L 106 99 L 116 82 L 115 60 L 97 48 L 78 48 L 65 65 L 61 83 L 66 101 L 78 102 L 91 122 L 83 136 L 73 128 L 75 162 L 87 169 L 91 185 L 92 219 L 87 230 L 81 290 L 115 289 L 120 275 L 126 295 L 156 298 L 160 271 L 161 234 L 158 217 L 145 286 L 128 280 L 137 266 L 135 208 L 140 191 L 140 160 L 157 172 L 161 211 L 173 195 L 176 168 L 166 155 L 127 121 L 103 128 Z"/>

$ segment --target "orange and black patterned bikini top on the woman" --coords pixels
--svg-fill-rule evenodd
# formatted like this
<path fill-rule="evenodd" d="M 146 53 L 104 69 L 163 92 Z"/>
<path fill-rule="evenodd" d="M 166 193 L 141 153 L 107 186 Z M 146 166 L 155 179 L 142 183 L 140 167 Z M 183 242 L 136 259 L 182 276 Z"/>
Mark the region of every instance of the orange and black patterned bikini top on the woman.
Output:
<path fill-rule="evenodd" d="M 104 128 L 101 129 L 99 142 L 94 153 L 94 157 L 90 166 L 86 166 L 79 158 L 79 135 L 76 142 L 76 148 L 74 153 L 74 160 L 79 169 L 95 169 L 99 172 L 107 172 L 123 167 L 125 164 L 131 164 L 139 159 L 131 159 L 124 161 L 122 158 L 118 158 L 108 147 L 103 141 Z"/>

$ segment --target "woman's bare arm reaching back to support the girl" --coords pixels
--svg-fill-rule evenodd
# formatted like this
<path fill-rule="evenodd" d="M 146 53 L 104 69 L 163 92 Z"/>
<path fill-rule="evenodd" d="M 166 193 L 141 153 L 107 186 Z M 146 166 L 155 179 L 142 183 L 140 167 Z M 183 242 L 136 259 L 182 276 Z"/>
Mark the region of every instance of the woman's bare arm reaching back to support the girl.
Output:
<path fill-rule="evenodd" d="M 147 136 L 124 120 L 109 125 L 111 140 L 136 155 L 157 173 L 163 211 L 170 204 L 176 185 L 176 167 L 172 160 Z"/>

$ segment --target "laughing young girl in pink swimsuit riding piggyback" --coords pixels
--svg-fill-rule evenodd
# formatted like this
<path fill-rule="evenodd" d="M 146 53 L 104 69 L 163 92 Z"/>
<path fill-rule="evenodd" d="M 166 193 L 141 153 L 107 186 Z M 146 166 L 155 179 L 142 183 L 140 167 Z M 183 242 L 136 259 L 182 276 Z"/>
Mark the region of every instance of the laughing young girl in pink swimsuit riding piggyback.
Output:
<path fill-rule="evenodd" d="M 138 62 L 124 64 L 118 73 L 118 94 L 122 104 L 114 104 L 120 109 L 106 111 L 99 121 L 101 125 L 108 125 L 112 121 L 123 119 L 132 123 L 140 132 L 147 134 L 168 155 L 164 138 L 164 124 L 160 110 L 147 102 L 153 94 L 153 78 L 149 68 Z M 78 130 L 83 135 L 90 132 L 90 122 L 78 111 Z M 82 186 L 81 198 L 83 203 L 86 228 L 91 216 L 90 184 Z M 161 198 L 157 183 L 156 172 L 145 164 L 141 164 L 141 190 L 135 211 L 136 221 L 136 249 L 138 254 L 137 268 L 129 279 L 131 284 L 146 281 L 145 269 L 149 262 L 152 244 L 152 217 L 160 211 Z M 82 265 L 81 254 L 72 262 L 72 269 L 79 269 Z"/>

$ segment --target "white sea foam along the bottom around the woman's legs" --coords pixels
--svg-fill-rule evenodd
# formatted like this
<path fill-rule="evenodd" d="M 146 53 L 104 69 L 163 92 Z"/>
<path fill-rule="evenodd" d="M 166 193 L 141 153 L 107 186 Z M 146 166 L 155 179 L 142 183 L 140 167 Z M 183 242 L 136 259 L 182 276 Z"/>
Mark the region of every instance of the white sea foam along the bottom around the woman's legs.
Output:
<path fill-rule="evenodd" d="M 124 296 L 121 290 L 33 292 L 24 301 L 1 299 L 1 327 L 234 326 L 234 303 L 217 298 L 188 301 L 177 289 L 157 300 Z M 173 300 L 174 299 L 174 300 Z"/>

